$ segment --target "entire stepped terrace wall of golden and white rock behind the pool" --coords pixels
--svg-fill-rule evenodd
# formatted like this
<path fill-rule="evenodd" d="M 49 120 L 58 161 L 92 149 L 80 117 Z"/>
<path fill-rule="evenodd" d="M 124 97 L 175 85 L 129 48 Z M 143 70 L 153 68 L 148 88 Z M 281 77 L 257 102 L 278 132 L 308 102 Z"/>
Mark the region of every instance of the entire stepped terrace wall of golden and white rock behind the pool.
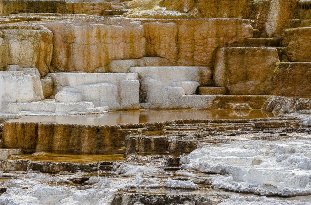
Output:
<path fill-rule="evenodd" d="M 0 5 L 0 13 L 10 15 L 0 17 L 0 70 L 22 71 L 25 81 L 36 84 L 35 94 L 25 92 L 15 101 L 2 88 L 1 109 L 7 113 L 230 107 L 220 99 L 245 99 L 258 108 L 266 95 L 310 97 L 308 1 L 2 0 Z M 40 81 L 26 76 L 36 69 Z M 75 75 L 59 81 L 66 72 Z"/>

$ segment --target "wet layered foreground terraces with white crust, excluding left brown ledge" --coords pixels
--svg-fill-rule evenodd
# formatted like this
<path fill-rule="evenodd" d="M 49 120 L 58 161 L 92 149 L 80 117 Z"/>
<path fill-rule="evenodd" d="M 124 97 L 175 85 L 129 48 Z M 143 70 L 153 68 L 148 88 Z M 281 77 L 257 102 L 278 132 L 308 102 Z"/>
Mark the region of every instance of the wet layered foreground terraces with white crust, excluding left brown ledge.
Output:
<path fill-rule="evenodd" d="M 118 129 L 127 133 L 124 161 L 0 161 L 0 204 L 309 204 L 311 130 L 299 118 L 180 119 Z M 250 180 L 255 172 L 266 181 Z"/>

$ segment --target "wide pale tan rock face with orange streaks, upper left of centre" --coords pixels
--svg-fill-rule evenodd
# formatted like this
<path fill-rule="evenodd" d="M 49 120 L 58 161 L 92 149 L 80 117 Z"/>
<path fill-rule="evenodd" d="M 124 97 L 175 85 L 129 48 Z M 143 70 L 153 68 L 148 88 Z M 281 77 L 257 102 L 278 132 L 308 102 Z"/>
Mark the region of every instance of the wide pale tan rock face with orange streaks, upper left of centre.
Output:
<path fill-rule="evenodd" d="M 138 22 L 77 18 L 44 25 L 54 33 L 52 64 L 60 71 L 92 72 L 111 60 L 145 55 L 144 29 Z"/>

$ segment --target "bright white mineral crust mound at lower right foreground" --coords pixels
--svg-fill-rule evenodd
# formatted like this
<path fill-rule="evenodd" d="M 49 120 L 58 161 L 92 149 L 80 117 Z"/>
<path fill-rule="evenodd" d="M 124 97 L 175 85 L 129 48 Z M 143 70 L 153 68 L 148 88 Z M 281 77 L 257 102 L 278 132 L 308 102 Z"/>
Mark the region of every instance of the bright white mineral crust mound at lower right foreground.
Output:
<path fill-rule="evenodd" d="M 295 141 L 241 140 L 205 146 L 182 158 L 183 167 L 218 174 L 213 185 L 264 196 L 311 194 L 311 135 Z"/>

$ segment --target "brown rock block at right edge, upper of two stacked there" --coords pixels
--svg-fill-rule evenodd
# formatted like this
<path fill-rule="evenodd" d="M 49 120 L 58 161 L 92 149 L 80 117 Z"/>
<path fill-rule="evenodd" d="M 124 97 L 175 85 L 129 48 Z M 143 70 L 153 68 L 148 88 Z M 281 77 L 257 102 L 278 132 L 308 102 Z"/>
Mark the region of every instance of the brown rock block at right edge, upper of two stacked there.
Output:
<path fill-rule="evenodd" d="M 285 31 L 283 45 L 288 47 L 290 61 L 311 61 L 311 28 L 296 28 Z"/>

